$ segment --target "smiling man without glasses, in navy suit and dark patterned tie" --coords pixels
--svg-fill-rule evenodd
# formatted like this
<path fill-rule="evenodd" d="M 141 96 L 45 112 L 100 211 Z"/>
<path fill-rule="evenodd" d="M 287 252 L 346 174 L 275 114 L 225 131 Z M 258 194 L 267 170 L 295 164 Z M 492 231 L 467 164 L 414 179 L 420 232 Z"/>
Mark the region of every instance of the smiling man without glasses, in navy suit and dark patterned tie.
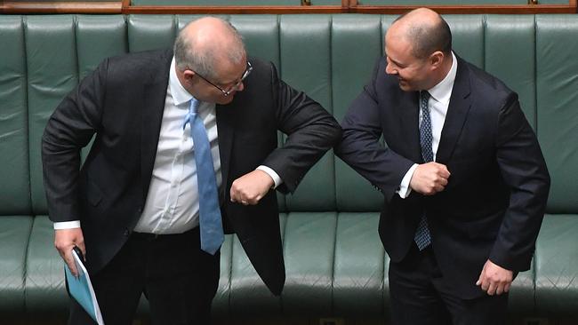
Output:
<path fill-rule="evenodd" d="M 406 13 L 385 42 L 335 152 L 384 195 L 393 323 L 502 323 L 550 187 L 534 131 L 516 93 L 454 55 L 438 13 Z"/>

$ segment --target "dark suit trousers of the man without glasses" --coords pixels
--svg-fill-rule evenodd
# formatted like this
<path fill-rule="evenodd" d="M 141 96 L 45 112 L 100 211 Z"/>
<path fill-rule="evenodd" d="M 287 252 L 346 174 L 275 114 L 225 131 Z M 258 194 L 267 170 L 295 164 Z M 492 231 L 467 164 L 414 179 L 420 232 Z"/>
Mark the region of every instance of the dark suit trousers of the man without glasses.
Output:
<path fill-rule="evenodd" d="M 505 324 L 508 307 L 507 294 L 462 299 L 448 289 L 431 245 L 420 251 L 413 244 L 389 265 L 389 298 L 393 325 Z"/>

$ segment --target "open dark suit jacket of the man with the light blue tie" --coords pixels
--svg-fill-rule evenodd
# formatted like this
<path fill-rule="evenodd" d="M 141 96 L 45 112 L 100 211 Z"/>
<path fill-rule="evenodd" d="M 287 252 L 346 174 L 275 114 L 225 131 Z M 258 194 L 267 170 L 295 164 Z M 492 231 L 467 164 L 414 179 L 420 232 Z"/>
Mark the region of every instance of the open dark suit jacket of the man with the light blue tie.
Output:
<path fill-rule="evenodd" d="M 87 266 L 97 272 L 136 225 L 149 192 L 173 52 L 106 59 L 56 108 L 44 131 L 44 183 L 52 221 L 81 220 Z M 263 164 L 293 192 L 339 139 L 333 117 L 277 77 L 270 63 L 251 59 L 245 91 L 217 106 L 224 225 L 238 235 L 253 266 L 275 294 L 285 283 L 277 197 L 255 206 L 230 202 L 236 178 Z M 289 135 L 277 148 L 277 130 Z M 82 169 L 79 150 L 96 134 Z M 195 189 L 191 189 L 195 190 Z"/>

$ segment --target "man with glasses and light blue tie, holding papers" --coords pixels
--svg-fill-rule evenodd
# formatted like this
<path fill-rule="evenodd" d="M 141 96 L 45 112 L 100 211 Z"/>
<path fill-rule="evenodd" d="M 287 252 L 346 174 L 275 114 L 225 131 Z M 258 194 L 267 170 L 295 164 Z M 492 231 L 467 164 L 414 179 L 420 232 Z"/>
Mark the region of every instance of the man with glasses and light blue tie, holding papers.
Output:
<path fill-rule="evenodd" d="M 277 131 L 288 135 L 283 147 Z M 293 192 L 340 136 L 272 64 L 247 59 L 228 22 L 196 20 L 174 54 L 106 59 L 53 113 L 42 152 L 55 246 L 73 273 L 71 250 L 85 252 L 107 325 L 130 324 L 142 292 L 153 323 L 207 324 L 223 228 L 279 295 L 272 189 Z M 73 303 L 69 323 L 90 319 Z"/>

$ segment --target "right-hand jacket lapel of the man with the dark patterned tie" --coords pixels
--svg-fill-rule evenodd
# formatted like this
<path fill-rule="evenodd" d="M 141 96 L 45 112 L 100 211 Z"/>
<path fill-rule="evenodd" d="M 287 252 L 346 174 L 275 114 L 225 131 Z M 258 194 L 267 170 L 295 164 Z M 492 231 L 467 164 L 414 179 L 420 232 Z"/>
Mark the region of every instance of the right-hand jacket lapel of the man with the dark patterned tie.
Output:
<path fill-rule="evenodd" d="M 463 124 L 470 112 L 470 74 L 466 62 L 458 60 L 458 71 L 455 75 L 454 89 L 447 107 L 446 122 L 439 140 L 436 162 L 446 164 L 452 154 L 457 140 L 462 133 Z"/>

